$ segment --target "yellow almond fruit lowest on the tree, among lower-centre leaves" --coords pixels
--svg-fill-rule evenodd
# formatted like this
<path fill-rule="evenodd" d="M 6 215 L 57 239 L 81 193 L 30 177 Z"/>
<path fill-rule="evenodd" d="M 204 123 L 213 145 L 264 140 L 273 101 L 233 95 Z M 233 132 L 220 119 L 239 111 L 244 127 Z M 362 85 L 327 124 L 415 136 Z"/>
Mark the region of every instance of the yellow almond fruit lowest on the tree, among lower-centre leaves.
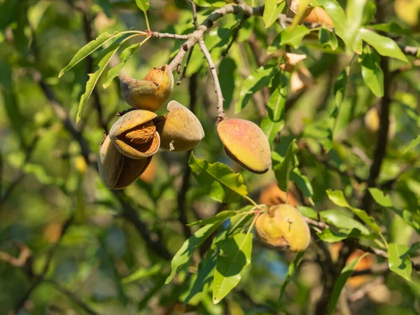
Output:
<path fill-rule="evenodd" d="M 260 241 L 276 249 L 304 251 L 311 241 L 309 226 L 304 217 L 290 204 L 271 207 L 258 216 L 255 232 Z"/>

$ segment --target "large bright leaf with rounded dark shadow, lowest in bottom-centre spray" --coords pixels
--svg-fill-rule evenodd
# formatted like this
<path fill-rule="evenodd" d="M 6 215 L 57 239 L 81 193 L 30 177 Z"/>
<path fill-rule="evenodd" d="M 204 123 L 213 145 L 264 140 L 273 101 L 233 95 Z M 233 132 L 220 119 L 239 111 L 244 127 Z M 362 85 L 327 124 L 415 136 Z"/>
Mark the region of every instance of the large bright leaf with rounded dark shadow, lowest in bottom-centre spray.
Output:
<path fill-rule="evenodd" d="M 213 302 L 217 304 L 241 281 L 241 273 L 251 263 L 253 234 L 238 233 L 219 243 L 213 282 Z"/>

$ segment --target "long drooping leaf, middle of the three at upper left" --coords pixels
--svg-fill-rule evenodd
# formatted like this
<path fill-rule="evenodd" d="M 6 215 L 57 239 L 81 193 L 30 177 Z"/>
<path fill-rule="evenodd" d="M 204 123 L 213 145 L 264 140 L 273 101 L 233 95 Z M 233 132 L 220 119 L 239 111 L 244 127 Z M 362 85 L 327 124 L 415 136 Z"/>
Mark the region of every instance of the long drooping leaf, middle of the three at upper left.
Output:
<path fill-rule="evenodd" d="M 117 41 L 109 45 L 108 48 L 102 50 L 99 57 L 97 57 L 97 59 L 95 60 L 94 64 L 98 66 L 99 69 L 97 69 L 97 71 L 94 71 L 94 73 L 89 73 L 89 80 L 87 80 L 86 83 L 85 93 L 83 93 L 82 97 L 80 97 L 80 102 L 76 113 L 76 123 L 78 123 L 78 121 L 80 120 L 83 107 L 89 100 L 90 95 L 92 95 L 93 89 L 97 84 L 99 77 L 105 71 L 106 66 L 111 61 L 112 56 L 117 52 L 118 48 L 120 48 L 120 45 L 121 41 L 120 39 L 118 39 Z"/>

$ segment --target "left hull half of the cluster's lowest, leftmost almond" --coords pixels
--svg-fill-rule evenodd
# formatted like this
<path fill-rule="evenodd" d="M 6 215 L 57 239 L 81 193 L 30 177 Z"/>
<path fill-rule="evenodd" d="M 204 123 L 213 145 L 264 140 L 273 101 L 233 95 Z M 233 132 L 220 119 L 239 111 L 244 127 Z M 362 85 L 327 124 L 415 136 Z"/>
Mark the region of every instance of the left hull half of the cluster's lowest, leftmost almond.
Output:
<path fill-rule="evenodd" d="M 106 136 L 99 147 L 98 160 L 99 176 L 106 188 L 114 188 L 123 169 L 123 155 Z"/>

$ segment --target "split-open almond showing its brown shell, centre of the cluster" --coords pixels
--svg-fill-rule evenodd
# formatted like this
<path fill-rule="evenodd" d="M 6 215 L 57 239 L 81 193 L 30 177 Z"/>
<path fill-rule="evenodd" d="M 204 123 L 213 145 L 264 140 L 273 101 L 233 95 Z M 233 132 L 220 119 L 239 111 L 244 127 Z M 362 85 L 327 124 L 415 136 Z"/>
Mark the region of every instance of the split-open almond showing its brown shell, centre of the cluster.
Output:
<path fill-rule="evenodd" d="M 128 158 L 148 158 L 160 146 L 154 118 L 156 114 L 151 111 L 129 111 L 113 124 L 109 137 L 118 151 Z"/>

